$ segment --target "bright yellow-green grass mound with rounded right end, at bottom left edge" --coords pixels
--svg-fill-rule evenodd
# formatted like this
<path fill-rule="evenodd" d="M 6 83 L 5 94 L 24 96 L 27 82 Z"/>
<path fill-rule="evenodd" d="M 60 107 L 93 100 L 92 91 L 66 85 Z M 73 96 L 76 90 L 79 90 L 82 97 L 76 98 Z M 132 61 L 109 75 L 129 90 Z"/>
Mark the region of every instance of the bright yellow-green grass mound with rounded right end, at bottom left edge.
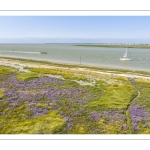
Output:
<path fill-rule="evenodd" d="M 65 126 L 64 119 L 57 111 L 26 121 L 7 124 L 1 133 L 5 134 L 53 134 Z"/>

